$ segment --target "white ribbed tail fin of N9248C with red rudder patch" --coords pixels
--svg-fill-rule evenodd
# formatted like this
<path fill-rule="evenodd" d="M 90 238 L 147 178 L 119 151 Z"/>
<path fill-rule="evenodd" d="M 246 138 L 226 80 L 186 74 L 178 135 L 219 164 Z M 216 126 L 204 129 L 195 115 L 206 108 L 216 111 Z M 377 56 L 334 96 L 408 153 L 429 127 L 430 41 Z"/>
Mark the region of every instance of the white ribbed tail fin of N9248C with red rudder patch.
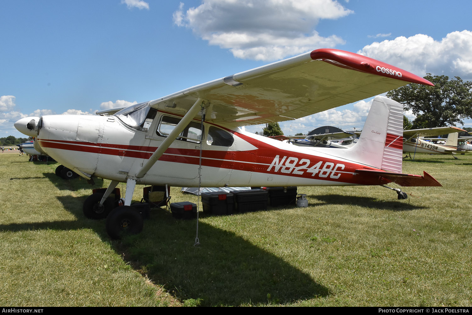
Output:
<path fill-rule="evenodd" d="M 402 173 L 403 105 L 377 96 L 365 121 L 359 141 L 347 149 L 355 162 L 385 171 Z"/>

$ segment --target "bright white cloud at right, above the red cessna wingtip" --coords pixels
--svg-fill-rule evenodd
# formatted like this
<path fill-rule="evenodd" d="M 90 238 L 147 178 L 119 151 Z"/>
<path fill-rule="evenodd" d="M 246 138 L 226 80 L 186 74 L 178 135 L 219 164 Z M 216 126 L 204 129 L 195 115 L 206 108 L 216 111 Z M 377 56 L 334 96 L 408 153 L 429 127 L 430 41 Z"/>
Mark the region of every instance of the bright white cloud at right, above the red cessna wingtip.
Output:
<path fill-rule="evenodd" d="M 373 42 L 358 53 L 399 66 L 415 75 L 460 76 L 472 79 L 472 32 L 448 33 L 441 41 L 423 34 Z"/>

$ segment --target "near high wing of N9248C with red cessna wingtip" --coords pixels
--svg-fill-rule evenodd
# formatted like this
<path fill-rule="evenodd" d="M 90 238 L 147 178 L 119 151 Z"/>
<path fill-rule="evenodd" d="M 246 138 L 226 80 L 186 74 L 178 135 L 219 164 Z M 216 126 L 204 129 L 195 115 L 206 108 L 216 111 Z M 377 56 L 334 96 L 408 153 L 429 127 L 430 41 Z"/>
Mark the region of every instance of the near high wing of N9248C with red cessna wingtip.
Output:
<path fill-rule="evenodd" d="M 372 58 L 319 49 L 196 85 L 150 106 L 184 116 L 201 99 L 207 122 L 243 126 L 308 116 L 408 83 L 433 85 Z"/>

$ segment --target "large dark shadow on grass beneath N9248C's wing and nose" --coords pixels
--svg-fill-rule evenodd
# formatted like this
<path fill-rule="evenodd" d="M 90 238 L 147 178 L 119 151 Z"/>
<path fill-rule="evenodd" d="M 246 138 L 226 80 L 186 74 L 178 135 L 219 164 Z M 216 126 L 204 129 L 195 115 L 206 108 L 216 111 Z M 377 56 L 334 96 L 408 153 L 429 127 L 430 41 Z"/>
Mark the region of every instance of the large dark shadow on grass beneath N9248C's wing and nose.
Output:
<path fill-rule="evenodd" d="M 84 218 L 85 197 L 57 198 L 76 221 L 0 224 L 0 230 L 90 228 L 110 242 L 105 220 Z M 181 300 L 201 298 L 202 306 L 286 303 L 330 294 L 310 275 L 233 232 L 200 222 L 201 245 L 195 247 L 195 227 L 195 220 L 178 220 L 164 209 L 154 208 L 151 218 L 144 220 L 141 234 L 111 245 L 170 294 Z"/>

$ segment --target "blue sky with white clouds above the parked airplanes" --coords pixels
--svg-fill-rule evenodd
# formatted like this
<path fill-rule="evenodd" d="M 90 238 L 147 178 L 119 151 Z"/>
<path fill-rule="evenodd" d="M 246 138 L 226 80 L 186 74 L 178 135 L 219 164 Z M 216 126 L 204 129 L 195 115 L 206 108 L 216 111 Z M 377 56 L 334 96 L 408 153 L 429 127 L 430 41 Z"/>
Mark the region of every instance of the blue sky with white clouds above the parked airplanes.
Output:
<path fill-rule="evenodd" d="M 0 1 L 0 137 L 23 137 L 13 123 L 25 116 L 93 114 L 318 48 L 472 81 L 471 11 L 433 0 Z M 369 108 L 280 125 L 361 129 Z"/>

